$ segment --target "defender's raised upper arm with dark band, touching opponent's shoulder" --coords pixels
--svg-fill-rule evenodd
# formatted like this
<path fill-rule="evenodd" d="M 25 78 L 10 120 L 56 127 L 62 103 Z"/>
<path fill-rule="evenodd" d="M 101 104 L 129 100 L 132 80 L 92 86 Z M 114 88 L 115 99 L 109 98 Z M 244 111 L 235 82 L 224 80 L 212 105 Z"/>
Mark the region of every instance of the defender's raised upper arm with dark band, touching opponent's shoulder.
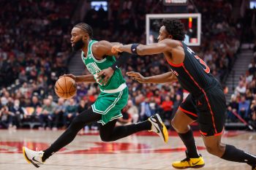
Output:
<path fill-rule="evenodd" d="M 171 52 L 173 47 L 177 47 L 178 42 L 172 39 L 164 39 L 161 42 L 153 43 L 150 45 L 140 45 L 140 44 L 131 44 L 131 45 L 115 45 L 112 49 L 113 53 L 116 52 L 127 52 L 133 53 L 136 55 L 152 55 L 165 52 Z"/>

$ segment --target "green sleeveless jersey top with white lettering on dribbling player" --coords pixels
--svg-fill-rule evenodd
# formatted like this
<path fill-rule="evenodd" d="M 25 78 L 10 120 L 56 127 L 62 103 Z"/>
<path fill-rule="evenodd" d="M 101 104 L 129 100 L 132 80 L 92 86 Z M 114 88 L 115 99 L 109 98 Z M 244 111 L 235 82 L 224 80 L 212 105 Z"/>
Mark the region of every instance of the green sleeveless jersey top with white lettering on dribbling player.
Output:
<path fill-rule="evenodd" d="M 106 56 L 106 58 L 102 59 L 101 61 L 98 61 L 96 58 L 94 58 L 94 54 L 92 53 L 91 46 L 97 41 L 91 40 L 88 45 L 88 51 L 87 54 L 84 55 L 82 51 L 82 60 L 83 63 L 86 65 L 87 69 L 91 74 L 94 75 L 94 79 L 97 77 L 97 73 L 100 72 L 102 69 L 107 69 L 108 67 L 112 66 L 113 63 L 116 62 L 115 56 Z M 102 85 L 101 82 L 97 82 L 99 84 L 99 88 L 101 90 L 113 90 L 118 88 L 121 84 L 125 82 L 124 77 L 121 74 L 120 69 L 116 69 L 116 71 L 113 73 L 110 80 L 108 80 L 108 83 L 106 85 Z"/>

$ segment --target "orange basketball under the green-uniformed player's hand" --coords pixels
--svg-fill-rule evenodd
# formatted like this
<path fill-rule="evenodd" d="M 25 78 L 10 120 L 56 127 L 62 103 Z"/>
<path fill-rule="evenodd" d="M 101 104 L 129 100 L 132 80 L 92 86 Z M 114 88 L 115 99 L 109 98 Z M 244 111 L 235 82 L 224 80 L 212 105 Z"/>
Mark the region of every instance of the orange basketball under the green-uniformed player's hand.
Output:
<path fill-rule="evenodd" d="M 71 77 L 64 76 L 56 81 L 54 90 L 60 98 L 69 99 L 77 93 L 77 84 Z"/>

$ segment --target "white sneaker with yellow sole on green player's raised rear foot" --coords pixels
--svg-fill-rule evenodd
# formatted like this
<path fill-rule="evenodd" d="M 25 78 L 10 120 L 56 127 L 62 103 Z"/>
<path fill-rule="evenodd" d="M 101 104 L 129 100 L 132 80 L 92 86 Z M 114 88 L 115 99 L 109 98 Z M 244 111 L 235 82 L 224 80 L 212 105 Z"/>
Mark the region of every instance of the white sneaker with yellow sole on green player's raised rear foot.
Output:
<path fill-rule="evenodd" d="M 157 133 L 162 138 L 162 140 L 165 143 L 167 143 L 169 138 L 168 131 L 167 131 L 167 128 L 165 127 L 165 124 L 162 123 L 161 117 L 158 114 L 156 114 L 149 117 L 148 120 L 152 124 L 151 131 L 154 131 L 155 133 Z"/>

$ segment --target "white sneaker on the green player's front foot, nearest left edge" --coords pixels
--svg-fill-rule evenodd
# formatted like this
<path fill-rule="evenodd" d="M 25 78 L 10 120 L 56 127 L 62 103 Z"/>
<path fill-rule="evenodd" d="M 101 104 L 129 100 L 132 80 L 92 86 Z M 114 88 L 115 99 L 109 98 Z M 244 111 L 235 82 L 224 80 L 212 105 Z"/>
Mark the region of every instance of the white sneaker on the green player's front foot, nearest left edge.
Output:
<path fill-rule="evenodd" d="M 42 162 L 42 155 L 44 155 L 44 152 L 41 151 L 34 151 L 29 150 L 27 147 L 23 147 L 23 156 L 26 159 L 28 163 L 32 163 L 34 166 L 39 168 L 39 165 L 42 165 L 44 162 Z"/>

